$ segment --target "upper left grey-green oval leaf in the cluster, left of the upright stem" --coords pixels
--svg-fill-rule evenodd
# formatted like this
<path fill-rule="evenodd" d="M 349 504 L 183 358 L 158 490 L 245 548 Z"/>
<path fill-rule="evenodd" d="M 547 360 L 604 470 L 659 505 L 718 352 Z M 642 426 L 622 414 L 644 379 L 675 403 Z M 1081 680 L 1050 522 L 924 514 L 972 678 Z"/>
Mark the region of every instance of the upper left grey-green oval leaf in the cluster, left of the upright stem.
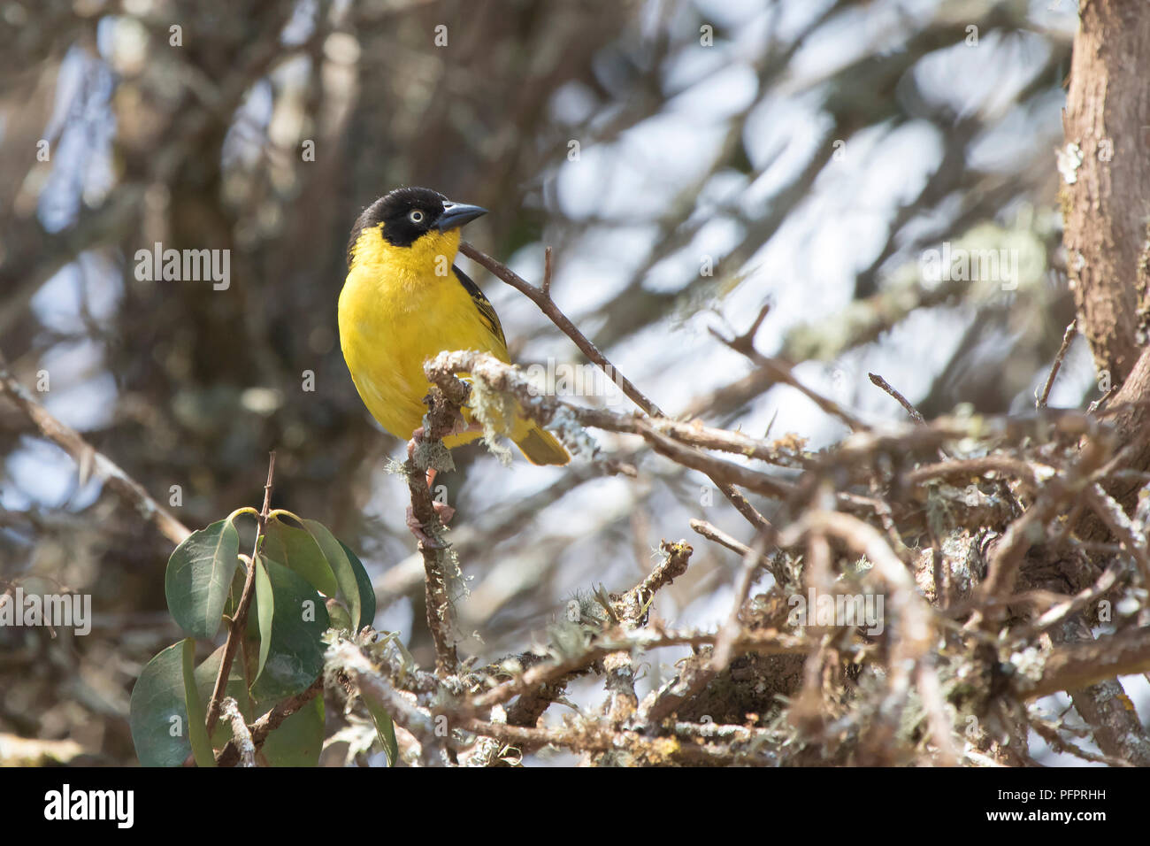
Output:
<path fill-rule="evenodd" d="M 168 610 L 193 638 L 214 638 L 239 555 L 239 533 L 231 520 L 192 532 L 168 559 L 164 594 Z"/>

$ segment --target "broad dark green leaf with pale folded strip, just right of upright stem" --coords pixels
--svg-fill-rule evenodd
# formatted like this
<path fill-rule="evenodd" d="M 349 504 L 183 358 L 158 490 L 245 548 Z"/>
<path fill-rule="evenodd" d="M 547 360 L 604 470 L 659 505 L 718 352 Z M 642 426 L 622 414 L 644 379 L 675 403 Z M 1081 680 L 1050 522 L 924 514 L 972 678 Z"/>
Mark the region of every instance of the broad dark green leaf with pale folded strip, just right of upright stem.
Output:
<path fill-rule="evenodd" d="M 260 662 L 252 695 L 283 699 L 306 691 L 323 670 L 328 609 L 301 576 L 274 561 L 255 570 L 255 611 L 260 623 Z"/>

